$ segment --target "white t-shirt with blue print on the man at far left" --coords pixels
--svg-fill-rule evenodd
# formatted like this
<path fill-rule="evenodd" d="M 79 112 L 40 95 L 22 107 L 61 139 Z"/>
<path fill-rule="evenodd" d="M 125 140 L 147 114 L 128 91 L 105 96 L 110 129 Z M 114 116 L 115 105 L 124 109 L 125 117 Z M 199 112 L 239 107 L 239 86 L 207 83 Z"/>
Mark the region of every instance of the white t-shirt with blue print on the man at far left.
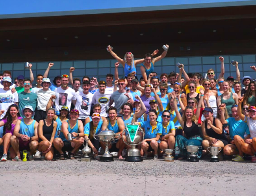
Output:
<path fill-rule="evenodd" d="M 17 92 L 11 93 L 11 89 L 8 91 L 0 89 L 0 109 L 4 110 L 4 113 L 1 115 L 1 119 L 4 118 L 4 115 L 6 115 L 8 107 L 15 102 L 19 102 L 19 96 Z"/>

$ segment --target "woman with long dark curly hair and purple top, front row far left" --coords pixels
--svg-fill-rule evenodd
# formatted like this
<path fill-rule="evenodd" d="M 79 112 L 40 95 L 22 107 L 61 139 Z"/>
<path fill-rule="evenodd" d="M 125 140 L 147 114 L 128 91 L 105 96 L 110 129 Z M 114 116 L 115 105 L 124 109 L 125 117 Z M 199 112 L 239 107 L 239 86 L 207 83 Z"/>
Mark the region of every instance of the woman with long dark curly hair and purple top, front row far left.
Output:
<path fill-rule="evenodd" d="M 22 117 L 20 117 L 18 106 L 16 104 L 12 104 L 9 106 L 8 110 L 6 111 L 6 115 L 4 115 L 3 120 L 0 121 L 1 127 L 4 125 L 6 126 L 6 131 L 4 133 L 4 136 L 2 137 L 2 142 L 4 142 L 4 153 L 1 158 L 1 162 L 7 161 L 7 151 L 9 150 L 9 147 L 10 147 L 10 138 L 13 135 L 13 131 L 17 121 L 21 118 Z"/>

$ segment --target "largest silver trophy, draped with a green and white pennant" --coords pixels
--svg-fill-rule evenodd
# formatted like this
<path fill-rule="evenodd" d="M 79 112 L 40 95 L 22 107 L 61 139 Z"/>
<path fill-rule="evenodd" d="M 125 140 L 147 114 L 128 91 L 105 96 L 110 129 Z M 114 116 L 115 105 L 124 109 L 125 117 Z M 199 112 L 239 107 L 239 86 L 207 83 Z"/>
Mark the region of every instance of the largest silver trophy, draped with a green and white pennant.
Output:
<path fill-rule="evenodd" d="M 126 141 L 124 136 L 126 135 Z M 143 158 L 139 149 L 136 148 L 137 145 L 141 144 L 144 139 L 144 132 L 139 125 L 135 123 L 130 123 L 125 126 L 122 134 L 122 139 L 126 145 L 130 145 L 130 149 L 127 150 L 126 159 L 127 162 L 142 162 Z"/>

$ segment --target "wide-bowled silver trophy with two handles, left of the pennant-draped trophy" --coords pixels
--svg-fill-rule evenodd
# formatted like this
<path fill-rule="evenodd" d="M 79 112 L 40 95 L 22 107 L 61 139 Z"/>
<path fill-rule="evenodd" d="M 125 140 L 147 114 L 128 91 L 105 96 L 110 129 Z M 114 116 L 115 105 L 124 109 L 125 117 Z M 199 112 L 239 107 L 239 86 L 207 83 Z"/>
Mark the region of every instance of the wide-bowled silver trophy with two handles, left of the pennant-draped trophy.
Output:
<path fill-rule="evenodd" d="M 95 136 L 98 136 L 98 139 L 95 138 Z M 115 136 L 118 136 L 118 138 L 115 138 Z M 116 141 L 120 139 L 120 134 L 115 134 L 112 130 L 109 130 L 108 128 L 104 131 L 101 131 L 98 135 L 93 134 L 93 137 L 95 140 L 99 140 L 100 142 L 103 142 L 104 145 L 106 145 L 105 152 L 102 156 L 100 156 L 101 162 L 111 162 L 114 161 L 113 155 L 110 154 L 108 150 L 108 146 L 112 141 Z"/>

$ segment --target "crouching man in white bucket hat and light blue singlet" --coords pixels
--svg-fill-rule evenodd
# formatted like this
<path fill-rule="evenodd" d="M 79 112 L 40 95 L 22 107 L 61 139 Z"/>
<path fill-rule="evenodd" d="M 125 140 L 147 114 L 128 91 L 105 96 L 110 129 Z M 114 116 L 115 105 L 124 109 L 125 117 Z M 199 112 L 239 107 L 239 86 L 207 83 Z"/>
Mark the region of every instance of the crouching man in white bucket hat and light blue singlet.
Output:
<path fill-rule="evenodd" d="M 25 118 L 19 119 L 15 125 L 13 136 L 10 138 L 11 146 L 15 152 L 12 161 L 19 161 L 20 151 L 30 151 L 29 161 L 33 160 L 33 154 L 38 147 L 37 125 L 38 122 L 32 119 L 35 115 L 32 106 L 26 105 L 22 109 Z"/>

